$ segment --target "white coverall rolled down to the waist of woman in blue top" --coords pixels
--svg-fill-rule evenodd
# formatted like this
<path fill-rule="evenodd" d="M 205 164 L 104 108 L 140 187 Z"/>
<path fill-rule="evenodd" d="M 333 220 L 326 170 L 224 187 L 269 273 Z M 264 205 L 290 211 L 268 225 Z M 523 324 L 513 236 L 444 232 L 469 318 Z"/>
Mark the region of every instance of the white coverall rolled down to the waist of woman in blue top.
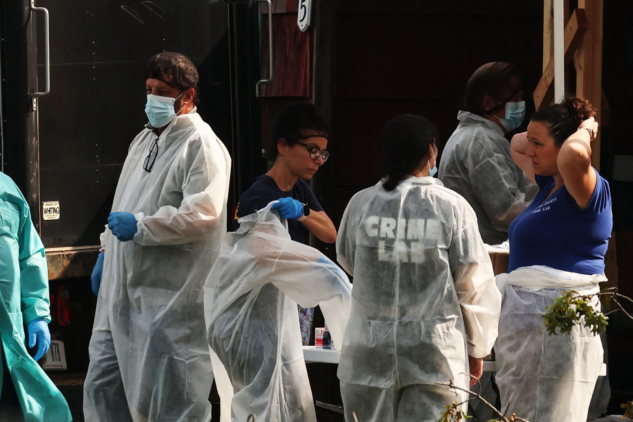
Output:
<path fill-rule="evenodd" d="M 549 335 L 542 314 L 569 290 L 599 291 L 604 275 L 584 275 L 547 266 L 499 274 L 503 291 L 499 338 L 494 346 L 501 407 L 532 422 L 579 422 L 587 410 L 603 363 L 600 336 L 585 326 Z M 592 306 L 599 307 L 594 297 Z"/>

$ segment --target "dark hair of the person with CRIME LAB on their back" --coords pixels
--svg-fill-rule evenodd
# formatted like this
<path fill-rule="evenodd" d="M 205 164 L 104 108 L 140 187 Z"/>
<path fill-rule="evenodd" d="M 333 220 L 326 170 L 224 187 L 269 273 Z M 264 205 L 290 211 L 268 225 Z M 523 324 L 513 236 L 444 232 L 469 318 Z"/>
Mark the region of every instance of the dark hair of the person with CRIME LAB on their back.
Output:
<path fill-rule="evenodd" d="M 435 144 L 439 132 L 436 125 L 422 116 L 401 115 L 385 127 L 382 149 L 390 164 L 385 190 L 394 190 L 400 182 L 420 167 L 429 154 L 429 144 Z"/>

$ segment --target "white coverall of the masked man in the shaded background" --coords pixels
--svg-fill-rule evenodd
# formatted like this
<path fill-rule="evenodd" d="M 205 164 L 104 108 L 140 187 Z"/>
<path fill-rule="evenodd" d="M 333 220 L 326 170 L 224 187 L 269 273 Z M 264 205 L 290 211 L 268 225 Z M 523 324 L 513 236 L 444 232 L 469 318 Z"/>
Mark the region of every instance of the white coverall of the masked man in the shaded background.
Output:
<path fill-rule="evenodd" d="M 508 240 L 510 223 L 538 188 L 512 159 L 499 125 L 468 111 L 457 118 L 460 124 L 446 142 L 437 177 L 475 210 L 484 242 L 497 245 Z"/>

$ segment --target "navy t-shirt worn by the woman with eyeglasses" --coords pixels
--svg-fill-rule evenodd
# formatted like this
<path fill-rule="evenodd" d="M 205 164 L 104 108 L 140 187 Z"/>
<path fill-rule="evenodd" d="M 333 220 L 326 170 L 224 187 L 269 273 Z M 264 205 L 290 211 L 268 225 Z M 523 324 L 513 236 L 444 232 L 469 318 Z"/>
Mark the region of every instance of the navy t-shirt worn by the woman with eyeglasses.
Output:
<path fill-rule="evenodd" d="M 233 220 L 233 226 L 237 230 L 239 223 L 237 218 L 253 214 L 258 209 L 264 208 L 270 201 L 277 201 L 279 198 L 292 197 L 303 204 L 308 204 L 312 211 L 323 211 L 321 204 L 318 203 L 314 192 L 308 186 L 308 183 L 304 180 L 298 179 L 292 190 L 281 190 L 277 186 L 277 182 L 266 175 L 261 175 L 256 178 L 255 183 L 249 187 L 249 189 L 242 194 L 237 204 L 237 213 L 235 213 L 235 220 Z M 308 229 L 297 220 L 288 221 L 288 232 L 290 238 L 296 242 L 308 244 L 310 239 L 310 232 Z"/>

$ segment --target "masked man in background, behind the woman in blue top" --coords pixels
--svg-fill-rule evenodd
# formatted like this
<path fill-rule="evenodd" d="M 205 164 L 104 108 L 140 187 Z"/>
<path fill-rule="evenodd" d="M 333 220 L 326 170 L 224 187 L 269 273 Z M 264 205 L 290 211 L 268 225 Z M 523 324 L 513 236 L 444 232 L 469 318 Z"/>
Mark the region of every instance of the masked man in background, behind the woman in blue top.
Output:
<path fill-rule="evenodd" d="M 530 204 L 537 189 L 510 155 L 504 135 L 525 118 L 525 101 L 517 68 L 492 62 L 468 80 L 458 127 L 439 166 L 444 186 L 462 195 L 475 210 L 487 244 L 508 240 L 510 223 Z"/>

